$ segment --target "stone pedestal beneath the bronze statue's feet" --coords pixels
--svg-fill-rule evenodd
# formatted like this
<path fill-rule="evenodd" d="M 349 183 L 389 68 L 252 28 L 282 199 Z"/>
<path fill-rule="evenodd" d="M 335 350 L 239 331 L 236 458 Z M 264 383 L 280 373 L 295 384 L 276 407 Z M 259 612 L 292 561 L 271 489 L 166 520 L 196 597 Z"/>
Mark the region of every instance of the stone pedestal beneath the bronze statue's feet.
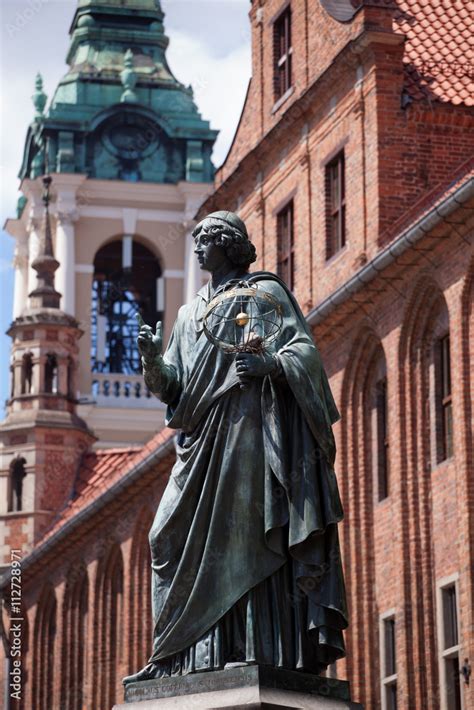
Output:
<path fill-rule="evenodd" d="M 132 683 L 114 710 L 362 710 L 347 681 L 266 666 Z"/>

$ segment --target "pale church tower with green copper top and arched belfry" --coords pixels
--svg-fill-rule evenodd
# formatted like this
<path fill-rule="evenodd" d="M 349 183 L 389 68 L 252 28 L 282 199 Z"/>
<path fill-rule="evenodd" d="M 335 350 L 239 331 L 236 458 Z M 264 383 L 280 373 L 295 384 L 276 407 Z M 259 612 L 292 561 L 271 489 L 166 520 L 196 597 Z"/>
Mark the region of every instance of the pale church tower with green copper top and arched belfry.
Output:
<path fill-rule="evenodd" d="M 217 132 L 168 66 L 163 17 L 158 0 L 79 0 L 69 68 L 49 104 L 36 78 L 23 196 L 6 225 L 16 241 L 18 319 L 33 306 L 42 176 L 51 175 L 55 286 L 64 317 L 83 331 L 80 341 L 71 331 L 79 348 L 71 394 L 102 448 L 141 444 L 164 422 L 140 373 L 136 314 L 153 326 L 163 320 L 167 338 L 201 285 L 190 232 L 212 189 Z M 33 379 L 40 371 L 33 366 Z"/>

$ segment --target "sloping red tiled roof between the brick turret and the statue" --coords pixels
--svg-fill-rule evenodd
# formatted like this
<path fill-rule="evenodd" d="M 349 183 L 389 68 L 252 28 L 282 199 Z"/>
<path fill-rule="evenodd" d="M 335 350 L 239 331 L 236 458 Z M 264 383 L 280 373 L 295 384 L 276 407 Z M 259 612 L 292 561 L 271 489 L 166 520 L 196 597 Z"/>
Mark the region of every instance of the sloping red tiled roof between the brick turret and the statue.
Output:
<path fill-rule="evenodd" d="M 68 520 L 109 490 L 114 483 L 175 434 L 172 429 L 163 429 L 142 447 L 130 446 L 87 452 L 82 459 L 71 500 L 59 513 L 39 544 L 56 533 Z"/>

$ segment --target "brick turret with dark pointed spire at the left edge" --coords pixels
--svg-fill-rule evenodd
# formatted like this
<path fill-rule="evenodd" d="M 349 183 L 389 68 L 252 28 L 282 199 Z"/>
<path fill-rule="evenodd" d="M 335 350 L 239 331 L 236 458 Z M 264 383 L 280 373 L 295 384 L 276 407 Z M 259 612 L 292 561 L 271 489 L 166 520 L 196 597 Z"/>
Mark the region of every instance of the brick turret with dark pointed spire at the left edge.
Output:
<path fill-rule="evenodd" d="M 77 320 L 60 310 L 54 274 L 49 200 L 43 178 L 44 218 L 35 224 L 38 252 L 31 263 L 36 284 L 29 305 L 13 321 L 11 392 L 0 425 L 1 563 L 14 546 L 31 549 L 71 496 L 81 456 L 94 442 L 77 416 Z"/>

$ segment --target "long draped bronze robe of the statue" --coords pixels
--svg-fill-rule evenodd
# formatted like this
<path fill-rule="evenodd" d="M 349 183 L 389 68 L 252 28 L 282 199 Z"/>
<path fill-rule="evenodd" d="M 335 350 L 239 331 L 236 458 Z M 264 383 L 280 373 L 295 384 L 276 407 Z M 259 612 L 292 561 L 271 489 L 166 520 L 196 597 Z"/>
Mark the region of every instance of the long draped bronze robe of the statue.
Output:
<path fill-rule="evenodd" d="M 235 357 L 203 332 L 209 285 L 180 309 L 164 355 L 159 396 L 180 434 L 150 531 L 150 660 L 163 675 L 233 661 L 318 672 L 344 655 L 339 415 L 291 292 L 268 272 L 245 278 L 282 307 L 277 377 L 240 388 Z"/>

